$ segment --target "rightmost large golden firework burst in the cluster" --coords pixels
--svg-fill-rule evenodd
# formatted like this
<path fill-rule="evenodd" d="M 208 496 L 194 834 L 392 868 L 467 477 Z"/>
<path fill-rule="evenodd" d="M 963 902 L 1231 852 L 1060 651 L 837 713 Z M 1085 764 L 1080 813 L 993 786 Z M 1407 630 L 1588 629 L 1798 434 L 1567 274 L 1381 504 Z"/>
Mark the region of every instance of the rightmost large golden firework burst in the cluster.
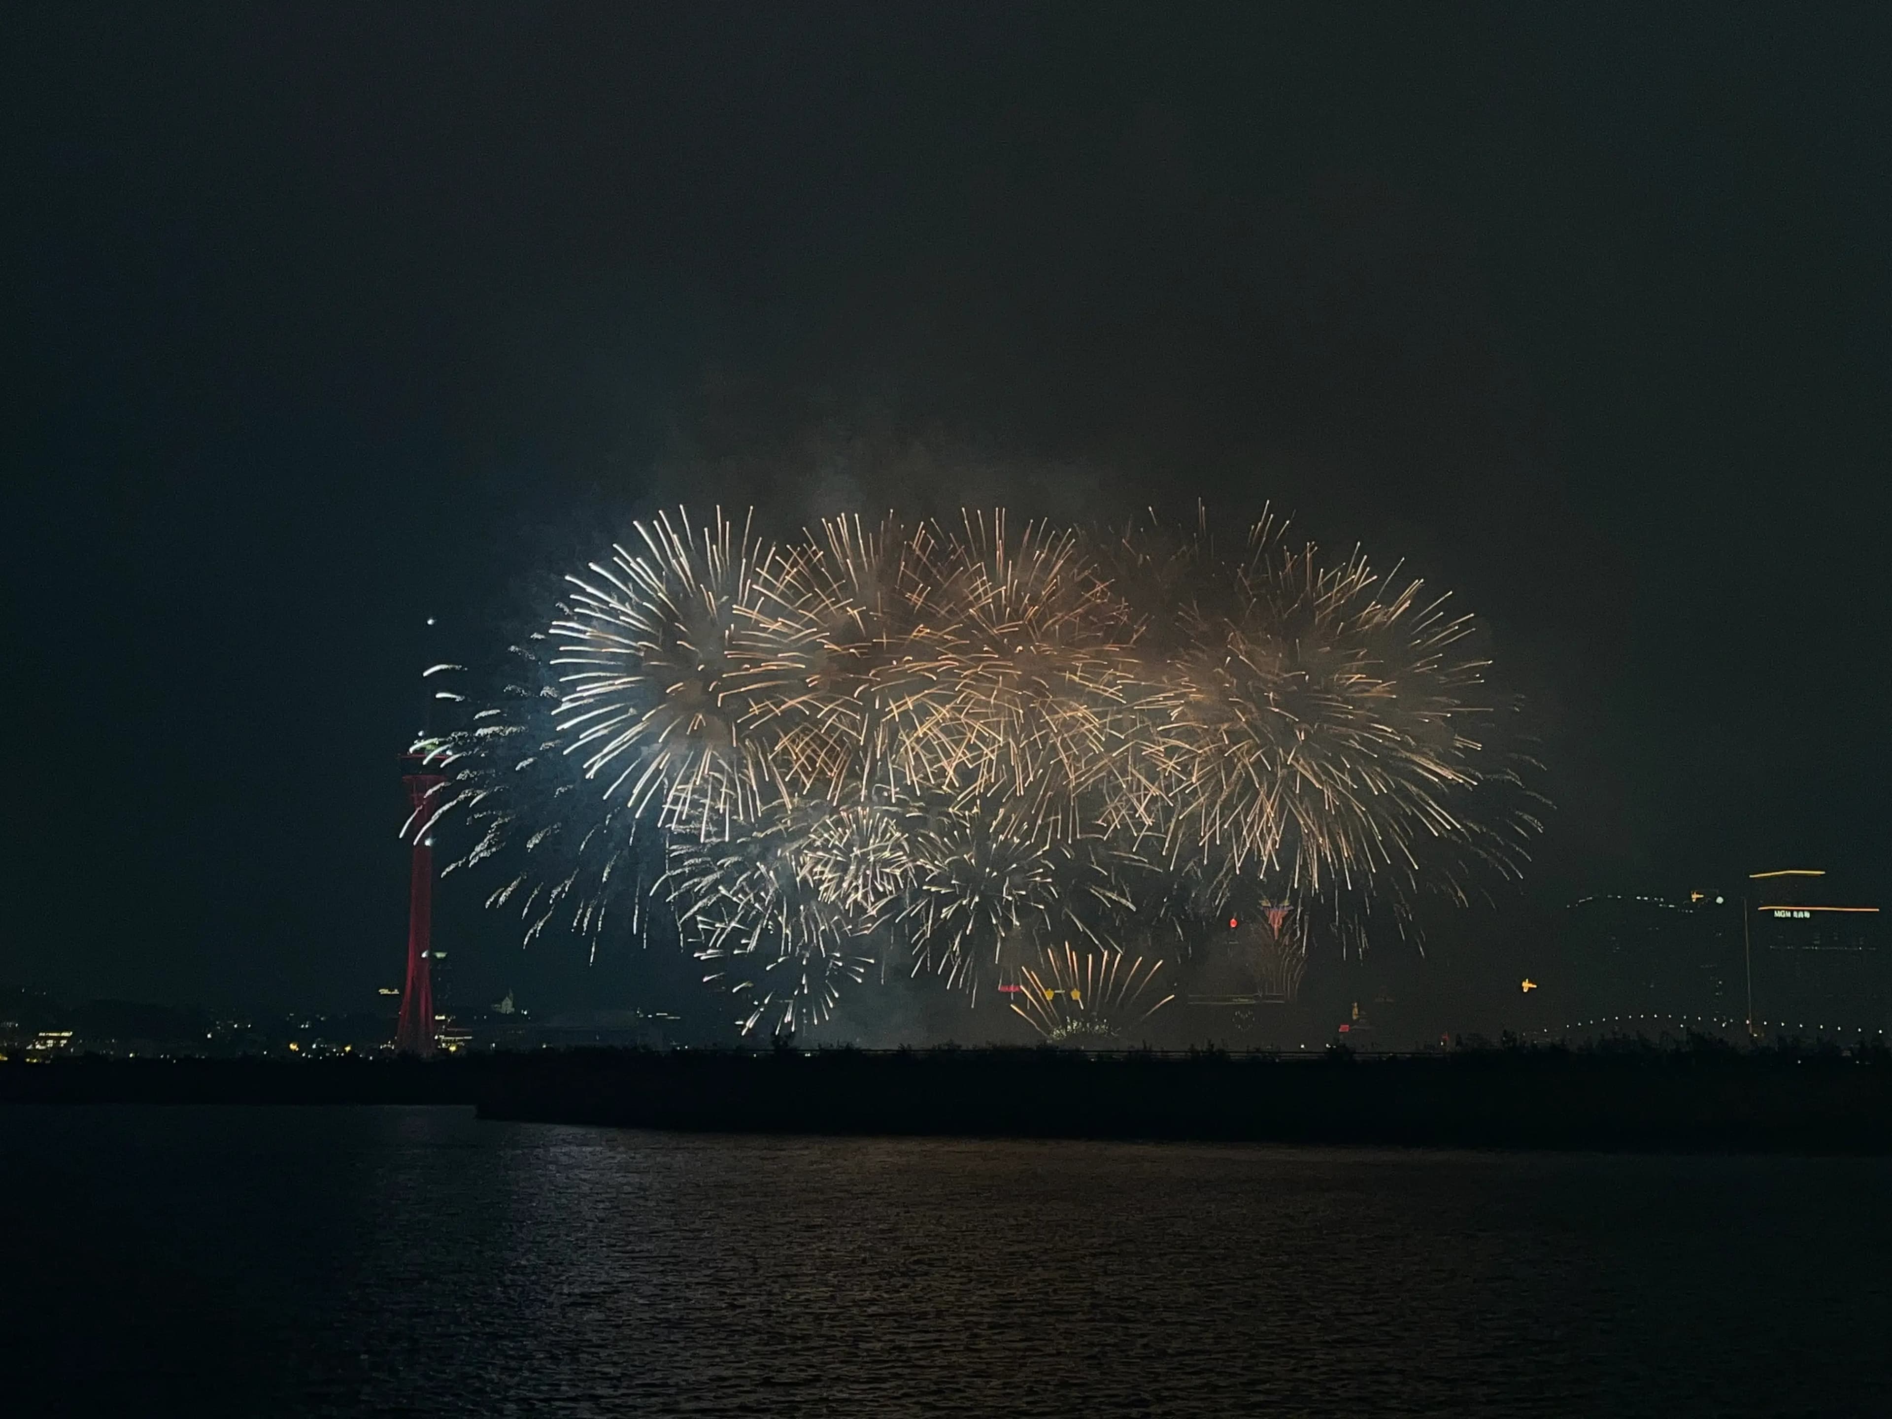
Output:
<path fill-rule="evenodd" d="M 1241 556 L 1126 539 L 1162 598 L 1105 821 L 1209 897 L 1237 882 L 1343 901 L 1436 887 L 1466 861 L 1515 876 L 1536 819 L 1485 825 L 1480 785 L 1517 783 L 1480 734 L 1497 717 L 1474 622 L 1355 554 L 1323 566 L 1264 518 Z"/>

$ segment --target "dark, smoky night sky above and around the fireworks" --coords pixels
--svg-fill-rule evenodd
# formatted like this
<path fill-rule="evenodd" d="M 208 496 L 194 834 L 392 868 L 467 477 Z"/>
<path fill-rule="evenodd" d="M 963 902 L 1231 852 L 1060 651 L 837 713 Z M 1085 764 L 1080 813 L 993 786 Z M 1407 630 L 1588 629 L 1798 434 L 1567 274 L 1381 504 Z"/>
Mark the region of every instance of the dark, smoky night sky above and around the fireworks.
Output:
<path fill-rule="evenodd" d="M 1529 902 L 1883 893 L 1883 15 L 13 8 L 0 982 L 371 1001 L 424 617 L 685 494 L 1271 499 L 1489 621 Z"/>

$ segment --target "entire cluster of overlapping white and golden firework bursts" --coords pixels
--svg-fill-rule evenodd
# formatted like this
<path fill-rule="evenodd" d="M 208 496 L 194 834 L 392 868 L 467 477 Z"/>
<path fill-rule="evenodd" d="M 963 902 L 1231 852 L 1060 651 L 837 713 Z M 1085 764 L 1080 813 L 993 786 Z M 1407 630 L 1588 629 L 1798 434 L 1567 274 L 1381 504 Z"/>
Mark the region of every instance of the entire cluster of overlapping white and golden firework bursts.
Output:
<path fill-rule="evenodd" d="M 517 850 L 490 904 L 594 948 L 655 893 L 745 1029 L 889 952 L 976 1001 L 1243 889 L 1358 935 L 1540 829 L 1470 617 L 1273 518 L 1235 552 L 1003 513 L 778 547 L 679 511 L 568 587 L 522 683 L 422 744 L 448 870 Z"/>

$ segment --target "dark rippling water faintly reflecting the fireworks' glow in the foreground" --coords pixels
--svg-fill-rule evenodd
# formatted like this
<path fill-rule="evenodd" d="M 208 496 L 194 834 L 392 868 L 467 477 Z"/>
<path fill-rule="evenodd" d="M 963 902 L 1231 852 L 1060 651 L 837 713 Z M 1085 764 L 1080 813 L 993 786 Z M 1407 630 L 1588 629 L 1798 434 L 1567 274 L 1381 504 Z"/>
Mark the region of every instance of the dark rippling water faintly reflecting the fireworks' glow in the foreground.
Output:
<path fill-rule="evenodd" d="M 1892 1413 L 1886 1160 L 13 1107 L 0 1209 L 40 1413 Z"/>

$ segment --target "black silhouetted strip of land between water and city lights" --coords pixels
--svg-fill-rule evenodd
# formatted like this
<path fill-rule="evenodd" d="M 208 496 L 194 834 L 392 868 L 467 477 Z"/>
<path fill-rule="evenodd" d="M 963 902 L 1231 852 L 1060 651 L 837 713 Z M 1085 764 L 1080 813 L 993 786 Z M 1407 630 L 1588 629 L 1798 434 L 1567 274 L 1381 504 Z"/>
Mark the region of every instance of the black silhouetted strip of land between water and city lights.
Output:
<path fill-rule="evenodd" d="M 1892 1056 L 1792 1046 L 1436 1056 L 543 1050 L 0 1065 L 11 1103 L 458 1103 L 687 1131 L 1892 1152 Z"/>

